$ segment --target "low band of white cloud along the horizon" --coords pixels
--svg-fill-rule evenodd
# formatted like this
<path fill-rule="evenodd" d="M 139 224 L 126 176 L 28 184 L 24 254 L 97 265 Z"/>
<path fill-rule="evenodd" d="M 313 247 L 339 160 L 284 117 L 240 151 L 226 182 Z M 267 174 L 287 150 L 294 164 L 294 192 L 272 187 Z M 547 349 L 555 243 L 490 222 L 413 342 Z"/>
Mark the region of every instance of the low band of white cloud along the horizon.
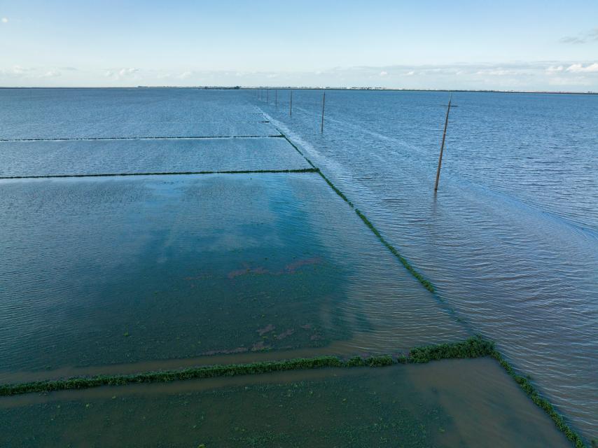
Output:
<path fill-rule="evenodd" d="M 383 73 L 387 73 L 384 75 Z M 598 91 L 598 60 L 348 66 L 320 71 L 209 71 L 189 68 L 100 69 L 4 65 L 0 85 L 329 85 L 496 90 Z"/>

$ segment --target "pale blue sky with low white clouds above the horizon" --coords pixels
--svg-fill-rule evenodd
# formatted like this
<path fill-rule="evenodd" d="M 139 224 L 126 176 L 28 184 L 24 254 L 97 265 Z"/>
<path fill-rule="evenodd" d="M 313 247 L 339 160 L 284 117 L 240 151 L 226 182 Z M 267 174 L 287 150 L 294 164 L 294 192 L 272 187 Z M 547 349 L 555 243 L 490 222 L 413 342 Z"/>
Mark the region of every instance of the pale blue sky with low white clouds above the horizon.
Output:
<path fill-rule="evenodd" d="M 0 1 L 0 85 L 598 91 L 598 1 Z"/>

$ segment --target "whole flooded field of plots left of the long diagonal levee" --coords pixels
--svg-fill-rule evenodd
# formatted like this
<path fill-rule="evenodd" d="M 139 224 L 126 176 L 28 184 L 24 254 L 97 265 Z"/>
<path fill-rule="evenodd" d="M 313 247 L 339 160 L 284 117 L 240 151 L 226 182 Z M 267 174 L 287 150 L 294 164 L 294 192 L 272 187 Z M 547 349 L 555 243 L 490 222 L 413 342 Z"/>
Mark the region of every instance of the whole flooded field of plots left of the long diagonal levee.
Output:
<path fill-rule="evenodd" d="M 1 95 L 0 384 L 328 355 L 415 363 L 414 347 L 476 330 L 250 92 Z M 0 396 L 0 444 L 568 443 L 489 357 L 77 384 Z"/>

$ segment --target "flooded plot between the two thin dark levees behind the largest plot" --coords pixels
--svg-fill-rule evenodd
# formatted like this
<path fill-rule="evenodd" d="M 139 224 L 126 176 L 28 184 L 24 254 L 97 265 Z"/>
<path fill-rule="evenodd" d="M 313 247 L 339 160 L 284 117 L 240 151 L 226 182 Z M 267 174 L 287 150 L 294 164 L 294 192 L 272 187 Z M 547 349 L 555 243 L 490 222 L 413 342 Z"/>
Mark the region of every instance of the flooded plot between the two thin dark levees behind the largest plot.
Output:
<path fill-rule="evenodd" d="M 0 177 L 309 168 L 281 138 L 0 141 Z"/>

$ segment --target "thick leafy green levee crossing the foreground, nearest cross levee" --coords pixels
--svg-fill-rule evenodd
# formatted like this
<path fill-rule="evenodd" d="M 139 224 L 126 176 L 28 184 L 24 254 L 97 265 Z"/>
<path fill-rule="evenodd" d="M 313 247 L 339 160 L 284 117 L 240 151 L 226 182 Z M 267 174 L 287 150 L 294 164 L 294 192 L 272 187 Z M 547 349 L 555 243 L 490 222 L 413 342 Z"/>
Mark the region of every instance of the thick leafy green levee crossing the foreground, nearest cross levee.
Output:
<path fill-rule="evenodd" d="M 416 347 L 411 349 L 407 354 L 396 357 L 391 355 L 370 356 L 367 358 L 355 356 L 345 360 L 337 356 L 319 356 L 316 358 L 296 358 L 248 364 L 208 365 L 190 367 L 184 370 L 161 370 L 127 375 L 97 375 L 49 381 L 32 381 L 20 384 L 3 384 L 0 386 L 0 395 L 20 395 L 32 392 L 44 393 L 98 386 L 122 386 L 136 383 L 164 383 L 186 379 L 233 377 L 285 370 L 311 370 L 323 367 L 384 367 L 398 363 L 419 364 L 427 363 L 431 360 L 448 358 L 479 358 L 481 356 L 489 356 L 493 351 L 494 344 L 492 342 L 475 336 L 451 344 Z"/>

